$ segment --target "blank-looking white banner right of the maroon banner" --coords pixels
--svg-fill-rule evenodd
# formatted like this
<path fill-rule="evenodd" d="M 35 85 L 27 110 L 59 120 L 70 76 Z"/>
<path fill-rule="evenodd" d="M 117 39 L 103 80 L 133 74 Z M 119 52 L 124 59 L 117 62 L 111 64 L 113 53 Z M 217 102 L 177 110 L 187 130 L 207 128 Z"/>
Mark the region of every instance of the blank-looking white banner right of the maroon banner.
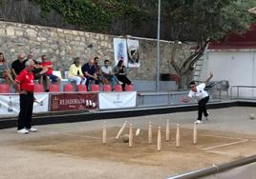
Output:
<path fill-rule="evenodd" d="M 99 109 L 123 109 L 136 107 L 137 92 L 99 92 Z"/>

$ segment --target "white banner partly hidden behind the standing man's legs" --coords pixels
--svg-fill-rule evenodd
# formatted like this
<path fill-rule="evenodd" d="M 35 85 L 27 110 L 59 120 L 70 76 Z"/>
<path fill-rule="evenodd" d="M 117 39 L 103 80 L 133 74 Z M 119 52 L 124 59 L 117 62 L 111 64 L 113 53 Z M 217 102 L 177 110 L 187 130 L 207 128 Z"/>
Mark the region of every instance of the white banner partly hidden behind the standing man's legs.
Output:
<path fill-rule="evenodd" d="M 36 102 L 33 103 L 33 113 L 48 111 L 49 94 L 34 93 Z M 19 94 L 0 95 L 1 115 L 16 115 L 19 113 Z"/>

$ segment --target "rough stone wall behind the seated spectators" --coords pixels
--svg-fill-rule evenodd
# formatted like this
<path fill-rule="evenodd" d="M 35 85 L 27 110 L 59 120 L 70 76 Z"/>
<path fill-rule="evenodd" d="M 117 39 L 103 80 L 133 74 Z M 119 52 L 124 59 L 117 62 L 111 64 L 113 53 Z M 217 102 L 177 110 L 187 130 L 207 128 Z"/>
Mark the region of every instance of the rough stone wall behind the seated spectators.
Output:
<path fill-rule="evenodd" d="M 54 69 L 68 70 L 73 58 L 79 56 L 82 63 L 98 56 L 114 61 L 113 35 L 98 34 L 78 30 L 62 30 L 0 21 L 0 51 L 11 64 L 20 52 L 33 51 L 39 61 L 46 54 L 53 62 Z M 168 68 L 171 44 L 161 42 L 161 73 L 175 73 Z M 137 80 L 155 80 L 157 42 L 139 40 L 140 68 L 130 68 L 129 77 Z M 179 58 L 183 58 L 182 54 Z M 113 63 L 114 65 L 114 63 Z"/>

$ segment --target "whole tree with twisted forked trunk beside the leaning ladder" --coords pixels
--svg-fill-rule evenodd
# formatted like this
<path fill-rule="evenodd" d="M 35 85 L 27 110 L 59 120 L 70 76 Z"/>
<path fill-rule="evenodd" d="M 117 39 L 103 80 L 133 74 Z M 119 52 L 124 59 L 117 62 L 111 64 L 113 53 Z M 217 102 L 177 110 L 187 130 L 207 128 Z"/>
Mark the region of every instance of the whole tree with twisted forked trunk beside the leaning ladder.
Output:
<path fill-rule="evenodd" d="M 220 40 L 224 35 L 241 33 L 248 29 L 255 20 L 247 10 L 253 7 L 254 1 L 238 0 L 174 0 L 164 1 L 165 17 L 171 25 L 171 49 L 169 66 L 179 76 L 179 89 L 184 87 L 184 77 L 194 70 L 195 63 L 203 55 L 210 41 Z M 166 12 L 168 11 L 168 12 Z M 254 21 L 255 22 L 255 21 Z M 181 41 L 190 39 L 197 43 L 197 48 L 186 56 L 182 62 L 176 60 L 181 50 Z"/>

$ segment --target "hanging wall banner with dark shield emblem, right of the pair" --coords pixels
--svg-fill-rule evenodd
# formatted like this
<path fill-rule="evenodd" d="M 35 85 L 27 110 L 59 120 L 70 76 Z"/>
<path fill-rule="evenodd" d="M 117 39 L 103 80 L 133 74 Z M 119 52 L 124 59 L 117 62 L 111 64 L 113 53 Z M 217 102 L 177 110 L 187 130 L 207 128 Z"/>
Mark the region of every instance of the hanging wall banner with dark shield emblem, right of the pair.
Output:
<path fill-rule="evenodd" d="M 139 68 L 139 40 L 127 39 L 128 67 Z"/>

